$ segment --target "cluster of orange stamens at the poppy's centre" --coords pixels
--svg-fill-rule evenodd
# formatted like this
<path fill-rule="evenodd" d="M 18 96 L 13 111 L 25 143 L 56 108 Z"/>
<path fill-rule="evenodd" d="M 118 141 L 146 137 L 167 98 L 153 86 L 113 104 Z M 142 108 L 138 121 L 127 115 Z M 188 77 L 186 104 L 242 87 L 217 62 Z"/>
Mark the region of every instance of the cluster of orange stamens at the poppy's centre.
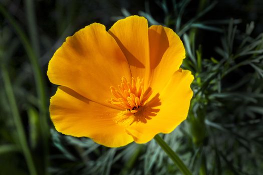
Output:
<path fill-rule="evenodd" d="M 122 83 L 118 85 L 118 89 L 110 87 L 113 98 L 107 101 L 131 113 L 136 113 L 151 96 L 152 90 L 150 87 L 144 90 L 143 78 L 137 77 L 135 80 L 132 77 L 131 82 L 128 82 L 125 77 L 122 77 L 121 80 Z"/>

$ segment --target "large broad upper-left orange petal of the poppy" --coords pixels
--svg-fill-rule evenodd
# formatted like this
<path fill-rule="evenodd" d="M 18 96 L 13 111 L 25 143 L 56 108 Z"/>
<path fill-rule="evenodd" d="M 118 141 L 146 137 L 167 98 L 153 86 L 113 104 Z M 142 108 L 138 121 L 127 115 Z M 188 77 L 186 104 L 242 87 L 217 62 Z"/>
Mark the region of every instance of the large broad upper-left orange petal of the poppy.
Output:
<path fill-rule="evenodd" d="M 67 37 L 49 62 L 51 82 L 70 87 L 81 95 L 109 105 L 110 86 L 130 78 L 128 62 L 105 26 L 93 23 Z"/>

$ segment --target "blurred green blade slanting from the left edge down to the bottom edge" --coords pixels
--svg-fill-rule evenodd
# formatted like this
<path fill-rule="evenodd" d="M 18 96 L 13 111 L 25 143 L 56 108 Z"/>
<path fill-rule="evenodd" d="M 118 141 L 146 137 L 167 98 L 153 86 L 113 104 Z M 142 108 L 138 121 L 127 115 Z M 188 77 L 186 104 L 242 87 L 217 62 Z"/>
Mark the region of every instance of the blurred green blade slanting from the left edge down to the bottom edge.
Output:
<path fill-rule="evenodd" d="M 26 133 L 24 131 L 23 123 L 21 121 L 21 116 L 19 114 L 19 110 L 18 110 L 18 106 L 16 103 L 14 91 L 13 91 L 13 88 L 11 85 L 11 81 L 9 78 L 9 74 L 8 74 L 8 71 L 4 65 L 2 65 L 1 68 L 2 68 L 2 75 L 3 75 L 3 80 L 4 80 L 4 85 L 5 85 L 7 97 L 8 97 L 10 106 L 12 108 L 12 113 L 13 113 L 15 125 L 16 125 L 17 131 L 18 131 L 19 141 L 21 143 L 21 147 L 22 147 L 22 150 L 24 152 L 24 155 L 25 155 L 28 167 L 29 167 L 30 174 L 35 175 L 35 174 L 37 174 L 37 170 L 36 170 L 35 164 L 33 162 L 33 157 L 32 157 L 32 154 L 31 154 L 29 146 L 28 146 Z"/>

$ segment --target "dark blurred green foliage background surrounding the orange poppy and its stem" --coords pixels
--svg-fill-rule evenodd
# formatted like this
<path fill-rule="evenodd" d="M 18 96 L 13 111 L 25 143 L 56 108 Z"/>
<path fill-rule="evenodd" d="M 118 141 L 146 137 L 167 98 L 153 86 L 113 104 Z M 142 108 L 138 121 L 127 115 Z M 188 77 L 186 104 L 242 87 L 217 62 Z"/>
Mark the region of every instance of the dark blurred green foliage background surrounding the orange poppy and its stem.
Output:
<path fill-rule="evenodd" d="M 195 76 L 188 118 L 165 141 L 193 174 L 262 174 L 262 0 L 0 0 L 0 174 L 180 174 L 154 140 L 107 148 L 49 117 L 56 49 L 131 14 L 176 31 Z"/>

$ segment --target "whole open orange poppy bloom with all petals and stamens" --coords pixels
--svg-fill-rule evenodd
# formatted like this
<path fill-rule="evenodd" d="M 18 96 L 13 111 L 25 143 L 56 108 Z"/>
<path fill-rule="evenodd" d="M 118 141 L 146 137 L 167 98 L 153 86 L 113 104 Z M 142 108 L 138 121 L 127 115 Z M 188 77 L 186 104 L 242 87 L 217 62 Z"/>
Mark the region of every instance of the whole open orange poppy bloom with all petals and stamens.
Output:
<path fill-rule="evenodd" d="M 145 143 L 170 133 L 187 116 L 193 75 L 180 67 L 182 41 L 140 16 L 108 31 L 92 23 L 67 37 L 49 62 L 59 84 L 50 116 L 59 132 L 109 147 Z"/>

